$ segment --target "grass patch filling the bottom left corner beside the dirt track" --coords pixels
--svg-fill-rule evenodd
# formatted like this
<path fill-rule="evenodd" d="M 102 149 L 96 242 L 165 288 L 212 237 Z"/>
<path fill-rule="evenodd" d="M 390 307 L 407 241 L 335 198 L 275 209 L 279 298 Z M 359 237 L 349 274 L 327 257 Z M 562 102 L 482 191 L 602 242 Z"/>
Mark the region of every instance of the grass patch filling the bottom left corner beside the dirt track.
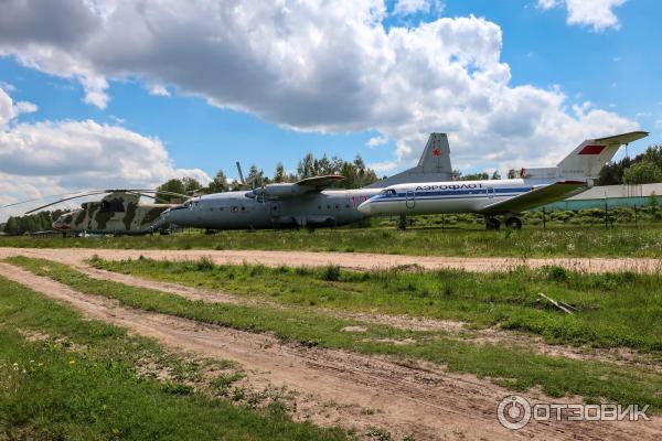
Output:
<path fill-rule="evenodd" d="M 210 398 L 201 365 L 167 355 L 150 340 L 83 320 L 0 278 L 0 439 L 8 440 L 341 440 L 340 430 L 291 422 Z M 20 331 L 20 332 L 19 332 Z M 139 374 L 146 359 L 173 372 Z M 193 383 L 193 386 L 190 384 Z"/>

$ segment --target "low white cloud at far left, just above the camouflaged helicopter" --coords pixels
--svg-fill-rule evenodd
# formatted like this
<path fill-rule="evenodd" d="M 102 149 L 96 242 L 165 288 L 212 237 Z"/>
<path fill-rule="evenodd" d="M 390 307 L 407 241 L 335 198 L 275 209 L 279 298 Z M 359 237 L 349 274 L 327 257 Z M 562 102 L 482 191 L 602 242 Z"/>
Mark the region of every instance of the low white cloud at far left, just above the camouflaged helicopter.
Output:
<path fill-rule="evenodd" d="M 13 105 L 0 88 L 0 205 L 77 190 L 154 187 L 184 175 L 210 181 L 202 170 L 175 169 L 160 140 L 122 127 L 15 121 L 32 109 L 28 103 Z M 22 209 L 0 211 L 0 219 Z"/>

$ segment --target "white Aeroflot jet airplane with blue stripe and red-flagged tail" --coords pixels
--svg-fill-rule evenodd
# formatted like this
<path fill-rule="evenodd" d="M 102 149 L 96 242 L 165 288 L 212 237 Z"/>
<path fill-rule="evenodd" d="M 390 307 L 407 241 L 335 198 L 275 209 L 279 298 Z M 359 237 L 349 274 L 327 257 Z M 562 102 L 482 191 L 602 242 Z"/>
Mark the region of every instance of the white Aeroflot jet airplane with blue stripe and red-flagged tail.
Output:
<path fill-rule="evenodd" d="M 519 229 L 517 213 L 581 193 L 622 144 L 645 138 L 633 131 L 579 144 L 557 166 L 522 169 L 520 178 L 490 181 L 410 182 L 389 185 L 359 205 L 365 216 L 476 213 L 488 229 Z"/>

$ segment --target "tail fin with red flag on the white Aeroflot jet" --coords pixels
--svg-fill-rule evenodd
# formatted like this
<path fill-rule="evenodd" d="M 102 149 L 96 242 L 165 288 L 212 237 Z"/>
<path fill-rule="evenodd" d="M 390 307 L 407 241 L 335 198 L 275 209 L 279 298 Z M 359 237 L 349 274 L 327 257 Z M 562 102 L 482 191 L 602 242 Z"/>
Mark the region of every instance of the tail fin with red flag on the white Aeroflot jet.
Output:
<path fill-rule="evenodd" d="M 596 179 L 622 144 L 648 137 L 645 131 L 632 131 L 607 138 L 587 139 L 558 163 L 560 176 Z"/>

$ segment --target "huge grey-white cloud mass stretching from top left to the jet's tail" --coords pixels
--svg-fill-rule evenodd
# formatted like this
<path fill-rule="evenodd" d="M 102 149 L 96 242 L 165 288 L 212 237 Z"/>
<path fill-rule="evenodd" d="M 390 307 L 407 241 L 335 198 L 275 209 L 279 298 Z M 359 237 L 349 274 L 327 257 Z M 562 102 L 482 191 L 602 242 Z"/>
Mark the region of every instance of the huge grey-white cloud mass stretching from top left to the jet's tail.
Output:
<path fill-rule="evenodd" d="M 0 54 L 78 79 L 99 107 L 109 80 L 138 78 L 296 130 L 375 130 L 395 142 L 397 166 L 431 131 L 449 133 L 458 164 L 551 163 L 586 137 L 638 127 L 574 109 L 558 87 L 511 86 L 501 29 L 476 17 L 386 29 L 382 0 L 63 0 L 47 18 L 22 4 L 3 4 Z"/>

